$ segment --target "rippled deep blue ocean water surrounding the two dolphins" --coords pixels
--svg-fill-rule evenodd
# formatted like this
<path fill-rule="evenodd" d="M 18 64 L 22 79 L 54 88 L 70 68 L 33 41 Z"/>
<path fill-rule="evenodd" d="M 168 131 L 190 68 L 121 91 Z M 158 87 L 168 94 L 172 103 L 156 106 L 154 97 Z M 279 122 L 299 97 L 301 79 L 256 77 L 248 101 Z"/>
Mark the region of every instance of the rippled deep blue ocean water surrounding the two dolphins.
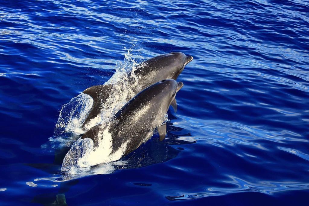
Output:
<path fill-rule="evenodd" d="M 0 204 L 307 205 L 308 11 L 300 0 L 2 0 Z M 171 51 L 194 60 L 166 139 L 109 174 L 60 180 L 62 105 L 128 52 Z"/>

